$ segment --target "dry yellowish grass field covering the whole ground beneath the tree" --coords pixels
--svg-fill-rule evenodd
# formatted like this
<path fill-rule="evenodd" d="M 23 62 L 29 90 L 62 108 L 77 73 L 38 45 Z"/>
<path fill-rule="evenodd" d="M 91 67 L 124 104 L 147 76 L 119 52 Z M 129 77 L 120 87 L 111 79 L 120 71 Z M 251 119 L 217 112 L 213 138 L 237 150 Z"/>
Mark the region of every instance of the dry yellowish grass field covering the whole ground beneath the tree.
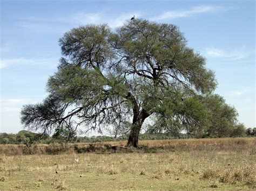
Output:
<path fill-rule="evenodd" d="M 0 145 L 0 189 L 256 188 L 256 138 L 145 140 L 141 150 L 100 150 L 105 144 L 125 142 L 97 143 L 84 153 L 77 151 L 90 150 L 69 144 L 59 154 L 38 154 L 49 145 L 37 145 L 31 155 L 21 146 Z M 92 147 L 76 145 L 86 146 Z"/>

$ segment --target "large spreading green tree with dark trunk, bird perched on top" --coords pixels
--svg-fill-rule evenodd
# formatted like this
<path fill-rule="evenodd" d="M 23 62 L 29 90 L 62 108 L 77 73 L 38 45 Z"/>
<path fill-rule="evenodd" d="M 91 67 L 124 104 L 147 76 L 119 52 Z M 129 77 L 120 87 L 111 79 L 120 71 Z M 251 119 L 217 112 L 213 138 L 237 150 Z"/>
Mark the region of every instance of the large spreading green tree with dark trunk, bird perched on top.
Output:
<path fill-rule="evenodd" d="M 28 129 L 125 127 L 127 146 L 138 147 L 146 118 L 177 128 L 205 125 L 200 96 L 217 83 L 205 58 L 186 46 L 177 26 L 143 19 L 117 30 L 86 25 L 66 32 L 59 45 L 64 58 L 48 81 L 49 96 L 21 111 Z"/>

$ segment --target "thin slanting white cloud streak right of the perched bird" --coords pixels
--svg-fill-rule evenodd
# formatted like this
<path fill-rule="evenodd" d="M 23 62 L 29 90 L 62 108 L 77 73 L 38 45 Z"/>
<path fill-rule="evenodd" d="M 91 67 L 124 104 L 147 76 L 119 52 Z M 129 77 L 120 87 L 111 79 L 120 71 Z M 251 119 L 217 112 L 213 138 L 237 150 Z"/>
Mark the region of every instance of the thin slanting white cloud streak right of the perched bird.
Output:
<path fill-rule="evenodd" d="M 161 15 L 151 18 L 151 20 L 164 20 L 164 19 L 175 19 L 181 17 L 191 17 L 193 15 L 197 15 L 200 13 L 207 12 L 216 12 L 220 10 L 227 10 L 227 8 L 223 8 L 220 6 L 212 6 L 212 5 L 200 5 L 194 6 L 191 9 L 187 10 L 177 10 L 177 11 L 166 11 L 161 13 Z"/>

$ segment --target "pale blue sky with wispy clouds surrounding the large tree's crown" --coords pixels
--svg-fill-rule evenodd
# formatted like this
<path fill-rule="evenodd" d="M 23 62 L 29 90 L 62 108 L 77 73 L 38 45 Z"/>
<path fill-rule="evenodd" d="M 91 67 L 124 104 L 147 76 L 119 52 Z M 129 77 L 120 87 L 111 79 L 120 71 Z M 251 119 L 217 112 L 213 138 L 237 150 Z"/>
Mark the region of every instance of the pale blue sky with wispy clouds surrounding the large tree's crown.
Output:
<path fill-rule="evenodd" d="M 178 25 L 215 71 L 215 93 L 238 110 L 247 128 L 256 127 L 255 1 L 0 1 L 0 132 L 22 130 L 22 105 L 47 95 L 64 32 L 90 23 L 114 29 L 133 15 Z"/>

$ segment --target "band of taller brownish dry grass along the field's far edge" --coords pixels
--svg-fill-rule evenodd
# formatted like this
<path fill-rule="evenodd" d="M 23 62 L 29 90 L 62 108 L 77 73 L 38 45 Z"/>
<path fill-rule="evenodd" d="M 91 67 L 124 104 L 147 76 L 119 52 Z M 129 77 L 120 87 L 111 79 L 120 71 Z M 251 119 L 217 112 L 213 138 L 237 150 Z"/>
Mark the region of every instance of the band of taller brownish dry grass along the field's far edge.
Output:
<path fill-rule="evenodd" d="M 132 150 L 132 152 L 161 152 L 161 151 L 194 151 L 194 150 L 221 150 L 221 151 L 246 151 L 255 152 L 256 138 L 215 138 L 215 139 L 171 139 L 171 140 L 141 140 L 144 150 Z M 98 142 L 98 143 L 77 143 L 77 144 L 37 144 L 31 147 L 25 145 L 0 145 L 0 154 L 22 155 L 22 154 L 69 154 L 74 152 L 105 152 L 106 145 L 124 146 L 122 142 Z M 105 146 L 104 146 L 105 145 Z M 93 146 L 92 150 L 90 149 Z M 76 149 L 79 148 L 79 149 Z M 129 150 L 131 151 L 131 150 Z"/>

